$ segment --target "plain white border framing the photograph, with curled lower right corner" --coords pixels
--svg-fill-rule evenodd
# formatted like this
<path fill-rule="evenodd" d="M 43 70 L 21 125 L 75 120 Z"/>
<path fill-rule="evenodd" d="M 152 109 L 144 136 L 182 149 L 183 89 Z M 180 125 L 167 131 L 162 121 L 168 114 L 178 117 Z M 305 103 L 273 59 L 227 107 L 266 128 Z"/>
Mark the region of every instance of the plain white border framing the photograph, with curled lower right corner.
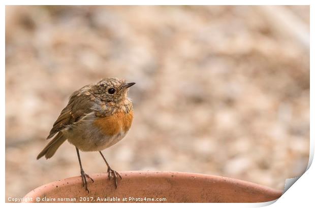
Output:
<path fill-rule="evenodd" d="M 2 38 L 2 50 L 1 50 L 1 57 L 3 59 L 3 70 L 1 72 L 2 74 L 2 90 L 1 95 L 3 98 L 3 101 L 1 102 L 1 112 L 2 112 L 2 119 L 1 119 L 1 132 L 3 133 L 3 145 L 2 145 L 2 160 L 1 160 L 1 177 L 3 179 L 3 182 L 5 182 L 5 5 L 103 5 L 106 3 L 106 5 L 310 5 L 310 34 L 314 34 L 314 8 L 311 4 L 311 1 L 96 1 L 96 0 L 90 0 L 90 1 L 3 1 L 2 9 L 0 14 L 2 14 L 2 21 L 1 21 L 1 38 Z M 27 4 L 26 4 L 27 3 Z M 314 57 L 314 44 L 312 41 L 310 41 L 311 47 L 310 47 L 310 57 Z M 313 59 L 310 59 L 310 80 L 314 80 L 314 73 L 313 73 Z M 314 118 L 314 84 L 310 82 L 310 126 L 314 126 L 313 118 Z M 311 164 L 311 161 L 313 159 L 314 155 L 314 132 L 313 129 L 310 129 L 310 159 L 308 167 Z M 297 183 L 295 183 L 283 196 L 281 196 L 275 203 L 273 203 L 271 206 L 273 207 L 287 207 L 287 206 L 298 206 L 303 205 L 305 207 L 310 207 L 314 203 L 314 197 L 313 197 L 313 190 L 311 185 L 315 184 L 315 180 L 313 176 L 315 176 L 315 168 L 314 165 L 310 166 L 309 169 L 301 176 L 301 178 L 298 180 Z M 1 189 L 1 195 L 2 202 L 5 202 L 5 183 L 3 183 L 3 188 Z M 229 203 L 229 204 L 198 204 L 202 206 L 215 206 L 215 207 L 259 207 L 259 206 L 265 206 L 270 204 L 270 202 L 266 203 Z M 17 203 L 6 203 L 6 206 L 19 206 L 22 205 L 23 207 L 29 207 L 29 206 L 42 206 L 42 204 L 17 204 Z M 47 206 L 55 206 L 54 204 L 45 204 Z M 87 204 L 77 204 L 76 206 L 79 207 L 85 207 Z M 104 204 L 94 204 L 96 206 L 104 206 Z M 122 204 L 111 204 L 110 206 L 116 206 L 116 205 L 122 205 Z M 170 204 L 168 204 L 170 205 Z M 172 204 L 171 204 L 172 205 Z M 188 204 L 181 204 L 181 205 L 188 205 Z M 191 204 L 189 204 L 191 205 Z M 194 205 L 194 204 L 193 204 Z M 141 204 L 141 203 L 135 203 L 135 204 L 128 204 L 128 206 L 131 207 L 139 207 L 139 206 L 147 206 L 147 204 Z M 161 206 L 161 204 L 150 204 L 150 206 Z"/>

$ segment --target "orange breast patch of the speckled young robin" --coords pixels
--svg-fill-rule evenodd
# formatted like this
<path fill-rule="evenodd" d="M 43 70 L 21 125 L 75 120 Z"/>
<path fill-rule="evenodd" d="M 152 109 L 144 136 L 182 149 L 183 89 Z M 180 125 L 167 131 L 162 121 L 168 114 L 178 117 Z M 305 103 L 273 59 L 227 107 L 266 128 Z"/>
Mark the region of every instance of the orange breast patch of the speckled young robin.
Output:
<path fill-rule="evenodd" d="M 119 112 L 111 116 L 96 119 L 94 125 L 99 127 L 105 135 L 112 136 L 120 133 L 121 130 L 124 132 L 128 131 L 131 127 L 133 118 L 133 111 L 128 114 Z"/>

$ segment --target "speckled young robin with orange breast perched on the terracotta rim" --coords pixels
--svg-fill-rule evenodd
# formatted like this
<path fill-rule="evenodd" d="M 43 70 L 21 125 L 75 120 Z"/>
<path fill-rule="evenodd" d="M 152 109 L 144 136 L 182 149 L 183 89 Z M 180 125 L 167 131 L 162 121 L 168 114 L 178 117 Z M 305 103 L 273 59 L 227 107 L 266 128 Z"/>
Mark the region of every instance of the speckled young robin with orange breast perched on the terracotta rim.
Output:
<path fill-rule="evenodd" d="M 107 165 L 108 179 L 112 175 L 117 188 L 117 175 L 120 179 L 121 176 L 109 166 L 101 151 L 119 142 L 131 127 L 134 113 L 127 93 L 134 84 L 108 78 L 75 91 L 53 124 L 47 139 L 56 136 L 37 159 L 44 155 L 46 159 L 51 158 L 60 145 L 68 140 L 76 147 L 83 187 L 89 193 L 86 177 L 94 181 L 82 168 L 79 150 L 99 151 Z"/>

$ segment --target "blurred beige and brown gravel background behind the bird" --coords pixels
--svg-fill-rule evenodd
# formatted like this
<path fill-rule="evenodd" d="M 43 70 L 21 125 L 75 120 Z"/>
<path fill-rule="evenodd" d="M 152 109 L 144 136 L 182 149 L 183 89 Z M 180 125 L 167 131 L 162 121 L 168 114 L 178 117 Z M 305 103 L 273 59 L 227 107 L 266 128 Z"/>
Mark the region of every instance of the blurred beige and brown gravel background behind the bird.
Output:
<path fill-rule="evenodd" d="M 276 8 L 309 29 L 308 6 Z M 49 160 L 36 156 L 69 95 L 106 77 L 137 83 L 133 126 L 104 151 L 115 170 L 283 189 L 308 162 L 309 51 L 265 14 L 253 6 L 8 6 L 6 198 L 80 174 L 69 143 Z M 87 174 L 107 170 L 97 153 L 81 158 Z"/>

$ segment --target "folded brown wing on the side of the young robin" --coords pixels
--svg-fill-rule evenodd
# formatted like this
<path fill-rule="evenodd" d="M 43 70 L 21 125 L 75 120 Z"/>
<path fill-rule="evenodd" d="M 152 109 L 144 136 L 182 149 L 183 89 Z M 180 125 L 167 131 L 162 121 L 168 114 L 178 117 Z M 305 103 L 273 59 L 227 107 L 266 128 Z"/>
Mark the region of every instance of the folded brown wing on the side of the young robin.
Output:
<path fill-rule="evenodd" d="M 59 117 L 53 124 L 47 139 L 53 137 L 57 132 L 64 130 L 69 125 L 77 122 L 80 118 L 92 111 L 90 108 L 92 103 L 89 97 L 84 94 L 77 96 L 80 93 L 81 91 L 77 90 L 70 96 L 68 105 L 61 111 Z"/>

